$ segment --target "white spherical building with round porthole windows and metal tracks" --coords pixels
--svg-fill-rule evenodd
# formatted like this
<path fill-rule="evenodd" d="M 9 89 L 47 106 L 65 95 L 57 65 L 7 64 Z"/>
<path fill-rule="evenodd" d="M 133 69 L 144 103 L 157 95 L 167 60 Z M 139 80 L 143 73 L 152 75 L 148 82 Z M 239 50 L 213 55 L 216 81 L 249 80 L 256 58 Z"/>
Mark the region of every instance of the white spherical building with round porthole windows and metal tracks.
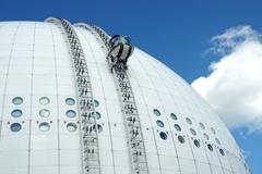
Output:
<path fill-rule="evenodd" d="M 122 77 L 108 38 L 59 18 L 0 23 L 0 174 L 250 173 L 190 85 L 138 48 Z"/>

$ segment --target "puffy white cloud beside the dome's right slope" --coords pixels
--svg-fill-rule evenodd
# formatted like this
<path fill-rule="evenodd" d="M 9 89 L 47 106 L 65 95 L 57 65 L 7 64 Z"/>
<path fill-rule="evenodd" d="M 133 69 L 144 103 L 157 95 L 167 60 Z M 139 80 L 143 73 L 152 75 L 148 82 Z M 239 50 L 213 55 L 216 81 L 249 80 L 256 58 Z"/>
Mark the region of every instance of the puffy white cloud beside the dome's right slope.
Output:
<path fill-rule="evenodd" d="M 210 75 L 192 87 L 217 111 L 229 128 L 262 130 L 262 42 L 250 26 L 237 26 L 211 39 L 210 51 L 222 58 Z"/>

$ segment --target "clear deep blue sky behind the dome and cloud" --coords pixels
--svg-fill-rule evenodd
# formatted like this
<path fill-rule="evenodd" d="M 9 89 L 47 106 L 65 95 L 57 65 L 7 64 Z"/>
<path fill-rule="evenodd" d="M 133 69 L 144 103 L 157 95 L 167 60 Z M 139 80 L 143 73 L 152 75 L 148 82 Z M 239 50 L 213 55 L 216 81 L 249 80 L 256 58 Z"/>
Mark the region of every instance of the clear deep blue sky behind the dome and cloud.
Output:
<path fill-rule="evenodd" d="M 213 36 L 239 25 L 250 26 L 249 33 L 262 32 L 261 7 L 262 2 L 255 0 L 1 0 L 0 20 L 44 21 L 61 16 L 72 23 L 95 23 L 109 34 L 129 35 L 135 46 L 191 84 L 211 74 L 211 62 L 228 55 L 218 51 L 204 55 L 210 48 L 217 49 L 211 41 Z M 260 174 L 262 134 L 260 129 L 250 133 L 250 126 L 235 126 L 231 132 L 253 174 Z"/>

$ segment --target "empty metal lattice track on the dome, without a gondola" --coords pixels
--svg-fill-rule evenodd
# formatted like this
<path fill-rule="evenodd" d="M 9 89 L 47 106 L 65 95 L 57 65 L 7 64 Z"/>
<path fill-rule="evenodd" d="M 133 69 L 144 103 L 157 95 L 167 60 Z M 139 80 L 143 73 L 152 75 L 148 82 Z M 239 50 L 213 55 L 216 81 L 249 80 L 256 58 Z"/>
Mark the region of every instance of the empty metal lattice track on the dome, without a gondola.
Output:
<path fill-rule="evenodd" d="M 53 23 L 61 28 L 68 42 L 78 95 L 80 115 L 80 134 L 82 149 L 82 173 L 100 174 L 98 148 L 98 127 L 95 119 L 95 105 L 91 78 L 85 55 L 73 26 L 63 18 L 49 17 L 46 22 Z"/>

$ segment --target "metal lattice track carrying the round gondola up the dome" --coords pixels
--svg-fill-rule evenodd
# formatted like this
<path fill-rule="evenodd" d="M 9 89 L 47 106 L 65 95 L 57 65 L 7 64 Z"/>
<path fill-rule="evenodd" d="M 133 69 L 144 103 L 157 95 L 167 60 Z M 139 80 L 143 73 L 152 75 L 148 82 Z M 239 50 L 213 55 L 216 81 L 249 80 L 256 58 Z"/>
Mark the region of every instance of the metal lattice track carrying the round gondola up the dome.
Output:
<path fill-rule="evenodd" d="M 92 32 L 100 39 L 102 47 L 105 53 L 110 51 L 109 39 L 110 36 L 96 25 L 88 25 L 84 23 L 75 24 L 78 27 L 85 28 Z M 108 61 L 109 62 L 109 61 Z M 142 134 L 142 126 L 140 122 L 139 111 L 135 103 L 132 86 L 130 84 L 127 69 L 121 64 L 111 66 L 112 75 L 117 85 L 117 90 L 121 99 L 122 113 L 126 123 L 126 130 L 128 136 L 128 146 L 130 151 L 130 159 L 132 162 L 133 174 L 148 174 L 148 164 L 145 152 L 144 138 Z"/>

